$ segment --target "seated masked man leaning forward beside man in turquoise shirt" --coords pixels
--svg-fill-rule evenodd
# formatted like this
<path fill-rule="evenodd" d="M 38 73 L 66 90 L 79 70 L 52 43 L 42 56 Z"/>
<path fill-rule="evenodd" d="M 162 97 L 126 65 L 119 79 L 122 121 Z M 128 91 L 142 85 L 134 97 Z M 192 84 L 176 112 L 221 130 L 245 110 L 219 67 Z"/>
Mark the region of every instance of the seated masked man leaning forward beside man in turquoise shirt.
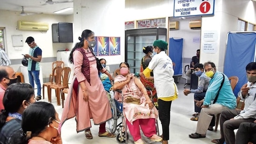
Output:
<path fill-rule="evenodd" d="M 201 63 L 197 63 L 194 65 L 195 75 L 199 76 L 199 83 L 197 89 L 184 89 L 184 95 L 187 96 L 190 93 L 194 93 L 194 100 L 201 101 L 204 99 L 206 90 L 208 89 L 209 81 L 211 78 L 205 75 L 204 73 L 204 65 Z M 200 115 L 201 106 L 196 106 L 196 102 L 194 101 L 194 117 L 191 117 L 190 120 L 198 121 L 198 117 Z"/>

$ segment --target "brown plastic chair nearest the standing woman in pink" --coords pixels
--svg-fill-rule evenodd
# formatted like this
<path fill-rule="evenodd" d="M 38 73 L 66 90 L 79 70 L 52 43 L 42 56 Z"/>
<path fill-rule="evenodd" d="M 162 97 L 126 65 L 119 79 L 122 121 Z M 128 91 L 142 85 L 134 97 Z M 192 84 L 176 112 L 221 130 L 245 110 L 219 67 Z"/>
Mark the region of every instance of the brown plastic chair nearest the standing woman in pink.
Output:
<path fill-rule="evenodd" d="M 61 81 L 61 79 L 62 79 L 62 83 L 50 86 L 50 91 L 49 91 L 50 99 L 51 99 L 51 89 L 55 89 L 55 94 L 56 94 L 56 97 L 57 97 L 57 105 L 61 105 L 60 94 L 62 94 L 62 90 L 66 89 L 66 88 L 69 88 L 70 73 L 71 73 L 71 69 L 69 67 L 62 68 L 61 74 L 63 76 L 63 79 L 62 79 L 62 76 L 60 76 L 60 75 L 57 76 L 58 80 Z"/>

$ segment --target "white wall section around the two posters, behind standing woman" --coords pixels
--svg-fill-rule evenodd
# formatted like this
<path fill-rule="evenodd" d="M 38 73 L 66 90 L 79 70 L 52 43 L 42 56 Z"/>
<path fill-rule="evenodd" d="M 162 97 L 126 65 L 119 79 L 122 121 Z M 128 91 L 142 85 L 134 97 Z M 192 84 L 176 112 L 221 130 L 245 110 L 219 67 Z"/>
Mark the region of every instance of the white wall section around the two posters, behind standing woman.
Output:
<path fill-rule="evenodd" d="M 74 41 L 78 42 L 84 29 L 92 30 L 96 36 L 121 37 L 121 55 L 99 56 L 108 65 L 125 61 L 125 0 L 75 0 Z M 111 69 L 111 71 L 113 71 Z"/>

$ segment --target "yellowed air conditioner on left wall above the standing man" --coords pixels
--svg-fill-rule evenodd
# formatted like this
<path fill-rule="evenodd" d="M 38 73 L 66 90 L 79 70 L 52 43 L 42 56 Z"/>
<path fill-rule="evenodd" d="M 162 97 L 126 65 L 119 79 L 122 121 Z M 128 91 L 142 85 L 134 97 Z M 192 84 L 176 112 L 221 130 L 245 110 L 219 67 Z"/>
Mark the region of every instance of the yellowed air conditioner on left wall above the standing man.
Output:
<path fill-rule="evenodd" d="M 49 25 L 47 22 L 18 21 L 18 29 L 47 31 L 49 29 Z"/>

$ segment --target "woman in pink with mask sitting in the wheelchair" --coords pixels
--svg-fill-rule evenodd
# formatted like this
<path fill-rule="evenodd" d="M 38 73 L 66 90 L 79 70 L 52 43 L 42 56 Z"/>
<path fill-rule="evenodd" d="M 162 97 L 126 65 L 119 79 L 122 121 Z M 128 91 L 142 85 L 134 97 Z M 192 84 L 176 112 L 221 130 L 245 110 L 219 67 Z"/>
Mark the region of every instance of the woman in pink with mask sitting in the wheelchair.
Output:
<path fill-rule="evenodd" d="M 122 90 L 126 123 L 134 144 L 144 144 L 139 126 L 150 140 L 162 141 L 162 138 L 156 135 L 155 118 L 157 118 L 158 111 L 150 100 L 144 85 L 134 77 L 134 74 L 130 74 L 130 66 L 127 62 L 120 63 L 119 67 L 121 75 L 116 76 L 113 90 Z M 115 99 L 122 101 L 122 95 L 116 92 Z"/>

